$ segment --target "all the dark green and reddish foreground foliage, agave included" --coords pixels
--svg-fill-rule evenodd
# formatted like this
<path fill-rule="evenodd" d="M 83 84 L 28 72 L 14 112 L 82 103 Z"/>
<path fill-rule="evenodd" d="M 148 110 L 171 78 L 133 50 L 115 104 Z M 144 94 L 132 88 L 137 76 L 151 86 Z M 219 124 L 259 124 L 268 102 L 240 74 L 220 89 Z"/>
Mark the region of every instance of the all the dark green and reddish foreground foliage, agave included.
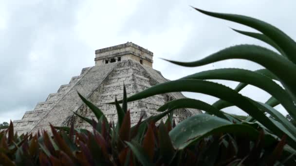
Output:
<path fill-rule="evenodd" d="M 113 103 L 117 109 L 116 124 L 109 123 L 98 107 L 78 93 L 96 119 L 74 114 L 89 123 L 92 131 L 75 129 L 74 124 L 71 127 L 51 125 L 51 132 L 18 135 L 10 123 L 7 130 L 0 132 L 0 165 L 295 165 L 295 42 L 277 28 L 255 18 L 196 10 L 255 28 L 261 33 L 235 31 L 266 42 L 279 54 L 259 46 L 239 45 L 195 62 L 169 61 L 195 67 L 239 58 L 265 68 L 203 71 L 155 85 L 129 98 L 124 87 L 123 100 L 116 99 Z M 231 89 L 205 81 L 211 79 L 240 83 Z M 242 96 L 239 91 L 248 84 L 265 90 L 272 97 L 261 103 Z M 203 93 L 220 100 L 212 105 L 193 99 L 169 101 L 158 109 L 160 114 L 144 120 L 141 117 L 136 125 L 131 125 L 128 101 L 179 91 Z M 274 108 L 278 104 L 287 110 L 289 117 Z M 228 106 L 237 106 L 249 116 L 223 112 L 222 109 Z M 175 125 L 173 111 L 180 108 L 202 109 L 206 114 L 191 116 Z M 267 113 L 272 118 L 267 117 Z"/>

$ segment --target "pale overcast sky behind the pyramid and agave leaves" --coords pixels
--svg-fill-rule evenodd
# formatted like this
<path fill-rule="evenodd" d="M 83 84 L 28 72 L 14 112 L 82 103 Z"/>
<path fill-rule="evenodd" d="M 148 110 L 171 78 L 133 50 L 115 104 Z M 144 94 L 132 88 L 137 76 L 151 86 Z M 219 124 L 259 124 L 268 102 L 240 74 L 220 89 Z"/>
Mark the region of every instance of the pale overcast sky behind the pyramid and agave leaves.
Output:
<path fill-rule="evenodd" d="M 256 17 L 296 39 L 295 0 L 1 0 L 0 122 L 21 119 L 82 68 L 94 66 L 94 50 L 128 41 L 152 51 L 153 68 L 170 80 L 222 67 L 261 68 L 243 60 L 187 68 L 159 59 L 194 61 L 244 43 L 266 47 L 229 27 L 254 30 L 205 16 L 189 5 Z M 251 86 L 241 93 L 263 102 L 270 97 Z M 217 100 L 184 94 L 208 103 Z M 226 111 L 243 114 L 233 107 Z"/>

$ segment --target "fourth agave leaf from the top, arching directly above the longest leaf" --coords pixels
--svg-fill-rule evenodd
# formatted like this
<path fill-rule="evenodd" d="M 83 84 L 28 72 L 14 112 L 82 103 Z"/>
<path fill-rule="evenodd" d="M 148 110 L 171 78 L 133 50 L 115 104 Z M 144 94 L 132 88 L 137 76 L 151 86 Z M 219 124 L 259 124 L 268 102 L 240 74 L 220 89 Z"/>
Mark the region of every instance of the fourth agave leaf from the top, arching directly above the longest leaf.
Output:
<path fill-rule="evenodd" d="M 293 100 L 281 86 L 263 74 L 239 68 L 222 68 L 202 71 L 182 79 L 230 80 L 254 85 L 276 98 L 288 113 L 296 119 L 296 106 Z"/>

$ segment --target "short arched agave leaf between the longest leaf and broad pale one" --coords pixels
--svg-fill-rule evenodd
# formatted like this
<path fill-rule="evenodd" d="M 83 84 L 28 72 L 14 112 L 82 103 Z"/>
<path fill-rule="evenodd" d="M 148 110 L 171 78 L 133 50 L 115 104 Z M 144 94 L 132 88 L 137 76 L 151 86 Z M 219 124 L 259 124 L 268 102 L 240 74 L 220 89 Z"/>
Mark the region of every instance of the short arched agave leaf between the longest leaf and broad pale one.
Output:
<path fill-rule="evenodd" d="M 206 102 L 203 102 L 201 100 L 195 100 L 195 99 L 177 99 L 177 100 L 168 101 L 164 105 L 159 107 L 157 111 L 163 112 L 165 110 L 180 109 L 180 108 L 200 109 L 205 112 L 211 113 L 215 116 L 228 120 L 228 118 L 219 109 L 211 106 Z"/>

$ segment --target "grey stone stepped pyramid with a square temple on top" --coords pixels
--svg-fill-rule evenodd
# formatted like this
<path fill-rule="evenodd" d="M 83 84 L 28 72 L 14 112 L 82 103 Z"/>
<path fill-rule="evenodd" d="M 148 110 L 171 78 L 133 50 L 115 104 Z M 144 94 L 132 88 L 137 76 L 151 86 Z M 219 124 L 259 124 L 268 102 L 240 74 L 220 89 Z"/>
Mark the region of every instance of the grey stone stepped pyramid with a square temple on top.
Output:
<path fill-rule="evenodd" d="M 95 66 L 83 68 L 79 76 L 72 77 L 69 84 L 61 85 L 56 93 L 49 94 L 44 102 L 38 102 L 33 111 L 25 112 L 21 120 L 15 120 L 14 128 L 19 134 L 37 133 L 54 126 L 70 126 L 91 130 L 92 127 L 74 112 L 94 118 L 92 111 L 80 100 L 77 91 L 96 104 L 109 121 L 117 121 L 116 108 L 107 104 L 122 99 L 123 84 L 128 96 L 158 83 L 169 80 L 152 68 L 153 53 L 128 42 L 95 51 Z M 135 124 L 141 115 L 144 119 L 156 115 L 156 110 L 167 101 L 185 98 L 181 93 L 156 95 L 128 103 L 131 123 Z M 174 112 L 176 123 L 188 116 L 202 113 L 196 109 L 179 109 Z"/>

